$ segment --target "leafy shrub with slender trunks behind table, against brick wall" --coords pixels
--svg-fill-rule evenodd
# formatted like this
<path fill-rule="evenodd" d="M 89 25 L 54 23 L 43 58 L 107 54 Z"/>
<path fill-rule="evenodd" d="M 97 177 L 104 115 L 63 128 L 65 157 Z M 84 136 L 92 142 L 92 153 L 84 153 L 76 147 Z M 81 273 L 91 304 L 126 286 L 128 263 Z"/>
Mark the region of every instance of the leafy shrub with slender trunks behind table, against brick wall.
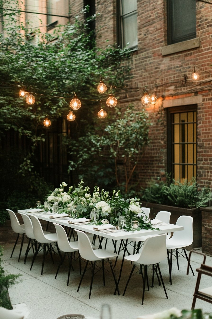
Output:
<path fill-rule="evenodd" d="M 80 170 L 80 176 L 84 178 L 91 163 L 100 163 L 101 168 L 99 167 L 97 174 L 103 175 L 107 170 L 109 157 L 113 162 L 112 177 L 115 177 L 119 188 L 124 184 L 124 191 L 127 193 L 138 160 L 149 143 L 150 121 L 147 112 L 134 105 L 130 105 L 123 114 L 118 109 L 116 112 L 112 121 L 105 122 L 105 126 L 94 126 L 92 133 L 87 132 L 77 140 L 66 139 L 73 155 L 69 169 Z"/>

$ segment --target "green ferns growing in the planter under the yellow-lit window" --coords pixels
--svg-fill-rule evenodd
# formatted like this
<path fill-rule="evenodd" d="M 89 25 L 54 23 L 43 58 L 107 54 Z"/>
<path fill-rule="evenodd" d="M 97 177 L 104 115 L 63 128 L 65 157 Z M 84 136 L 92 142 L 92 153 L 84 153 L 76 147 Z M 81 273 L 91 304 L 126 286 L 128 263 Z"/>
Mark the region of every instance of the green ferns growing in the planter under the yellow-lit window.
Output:
<path fill-rule="evenodd" d="M 191 182 L 185 180 L 183 183 L 179 181 L 167 180 L 151 181 L 149 186 L 141 191 L 143 201 L 177 206 L 182 208 L 198 208 L 208 205 L 212 198 L 209 187 L 198 188 L 195 178 Z"/>

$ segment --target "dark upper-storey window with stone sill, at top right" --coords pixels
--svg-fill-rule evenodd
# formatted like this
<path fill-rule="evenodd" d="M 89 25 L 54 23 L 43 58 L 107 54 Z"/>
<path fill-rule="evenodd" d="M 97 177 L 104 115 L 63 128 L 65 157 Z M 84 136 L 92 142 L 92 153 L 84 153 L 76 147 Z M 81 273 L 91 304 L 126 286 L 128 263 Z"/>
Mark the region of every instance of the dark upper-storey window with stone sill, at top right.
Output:
<path fill-rule="evenodd" d="M 168 45 L 196 37 L 196 1 L 167 0 Z"/>

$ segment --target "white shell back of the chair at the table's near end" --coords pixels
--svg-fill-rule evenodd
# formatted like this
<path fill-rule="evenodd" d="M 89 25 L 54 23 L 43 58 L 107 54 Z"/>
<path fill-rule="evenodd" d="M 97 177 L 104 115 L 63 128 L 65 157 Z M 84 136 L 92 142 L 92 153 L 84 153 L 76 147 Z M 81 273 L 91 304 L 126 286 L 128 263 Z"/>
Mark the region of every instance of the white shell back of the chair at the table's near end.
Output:
<path fill-rule="evenodd" d="M 138 255 L 137 263 L 151 265 L 167 258 L 166 234 L 148 237 Z"/>

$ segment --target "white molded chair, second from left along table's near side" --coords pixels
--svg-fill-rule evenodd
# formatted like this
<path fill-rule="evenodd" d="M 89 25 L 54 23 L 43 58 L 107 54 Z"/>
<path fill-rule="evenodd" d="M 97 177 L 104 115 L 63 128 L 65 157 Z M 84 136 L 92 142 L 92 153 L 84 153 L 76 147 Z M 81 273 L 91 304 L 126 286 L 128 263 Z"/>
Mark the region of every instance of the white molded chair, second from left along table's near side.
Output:
<path fill-rule="evenodd" d="M 33 250 L 33 254 L 35 254 L 34 247 L 35 247 L 35 250 L 36 250 L 37 249 L 37 241 L 36 241 L 35 236 L 34 236 L 33 226 L 32 226 L 32 222 L 31 222 L 30 217 L 28 215 L 24 214 L 24 213 L 19 213 L 19 214 L 23 218 L 25 234 L 29 238 L 29 242 L 28 242 L 28 246 L 27 246 L 26 253 L 25 253 L 25 258 L 24 258 L 24 264 L 25 264 L 27 256 L 28 256 L 28 253 L 29 253 L 29 250 L 31 248 Z M 44 231 L 44 235 L 47 235 L 47 234 L 51 234 L 51 233 Z M 30 244 L 31 244 L 31 246 L 30 246 Z"/>

